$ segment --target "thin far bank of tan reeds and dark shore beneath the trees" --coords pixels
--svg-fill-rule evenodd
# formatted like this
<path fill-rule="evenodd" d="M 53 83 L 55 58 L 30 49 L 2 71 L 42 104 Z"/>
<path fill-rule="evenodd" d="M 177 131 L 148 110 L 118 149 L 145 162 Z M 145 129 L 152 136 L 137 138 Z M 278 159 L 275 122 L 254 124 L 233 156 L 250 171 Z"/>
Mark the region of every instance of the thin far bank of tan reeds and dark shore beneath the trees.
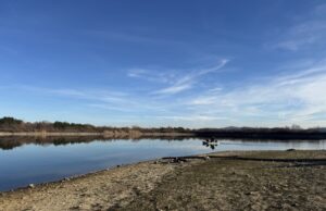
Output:
<path fill-rule="evenodd" d="M 103 137 L 103 138 L 216 138 L 216 139 L 252 139 L 252 140 L 324 140 L 326 133 L 305 133 L 305 132 L 291 132 L 291 133 L 259 133 L 259 132 L 150 132 L 143 133 L 139 131 L 104 131 L 104 132 L 0 132 L 0 137 Z"/>

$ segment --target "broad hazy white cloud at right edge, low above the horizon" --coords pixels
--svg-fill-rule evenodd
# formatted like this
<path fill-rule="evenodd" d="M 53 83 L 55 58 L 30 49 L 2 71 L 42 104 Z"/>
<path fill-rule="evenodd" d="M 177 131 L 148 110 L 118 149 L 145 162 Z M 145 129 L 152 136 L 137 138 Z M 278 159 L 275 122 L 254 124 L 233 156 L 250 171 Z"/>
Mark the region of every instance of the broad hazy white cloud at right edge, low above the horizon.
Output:
<path fill-rule="evenodd" d="M 255 85 L 228 91 L 210 92 L 190 99 L 193 112 L 234 120 L 259 120 L 264 123 L 316 124 L 314 117 L 326 114 L 326 63 L 308 70 L 278 75 Z M 306 122 L 308 121 L 308 122 Z M 311 121 L 311 122 L 309 122 Z M 321 120 L 319 120 L 321 122 Z M 325 124 L 326 120 L 324 120 Z"/>

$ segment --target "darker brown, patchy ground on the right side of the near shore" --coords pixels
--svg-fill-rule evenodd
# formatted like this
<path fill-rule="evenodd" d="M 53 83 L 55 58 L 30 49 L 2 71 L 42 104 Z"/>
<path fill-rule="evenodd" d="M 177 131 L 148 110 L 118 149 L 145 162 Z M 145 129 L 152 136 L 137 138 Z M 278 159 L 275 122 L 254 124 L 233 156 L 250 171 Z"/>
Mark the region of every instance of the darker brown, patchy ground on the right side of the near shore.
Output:
<path fill-rule="evenodd" d="M 239 153 L 237 153 L 239 154 Z M 326 158 L 325 151 L 244 152 L 246 158 Z M 326 167 L 210 159 L 165 175 L 122 210 L 326 210 Z"/>

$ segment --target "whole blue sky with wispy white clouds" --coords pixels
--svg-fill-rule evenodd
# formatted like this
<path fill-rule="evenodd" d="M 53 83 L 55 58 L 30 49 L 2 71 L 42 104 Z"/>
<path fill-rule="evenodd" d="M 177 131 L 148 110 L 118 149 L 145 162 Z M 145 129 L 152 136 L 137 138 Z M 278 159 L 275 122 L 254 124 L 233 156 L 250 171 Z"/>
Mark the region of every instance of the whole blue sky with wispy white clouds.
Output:
<path fill-rule="evenodd" d="M 2 0 L 0 116 L 326 126 L 323 0 Z"/>

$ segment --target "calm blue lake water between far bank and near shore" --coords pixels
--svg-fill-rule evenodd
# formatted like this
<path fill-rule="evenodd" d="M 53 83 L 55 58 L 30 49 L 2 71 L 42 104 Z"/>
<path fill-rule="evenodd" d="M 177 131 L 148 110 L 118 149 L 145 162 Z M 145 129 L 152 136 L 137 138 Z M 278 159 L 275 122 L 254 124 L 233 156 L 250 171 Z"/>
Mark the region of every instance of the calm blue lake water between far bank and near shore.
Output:
<path fill-rule="evenodd" d="M 221 140 L 215 149 L 199 139 L 30 140 L 0 138 L 0 190 L 167 156 L 225 150 L 326 149 L 326 140 Z"/>

